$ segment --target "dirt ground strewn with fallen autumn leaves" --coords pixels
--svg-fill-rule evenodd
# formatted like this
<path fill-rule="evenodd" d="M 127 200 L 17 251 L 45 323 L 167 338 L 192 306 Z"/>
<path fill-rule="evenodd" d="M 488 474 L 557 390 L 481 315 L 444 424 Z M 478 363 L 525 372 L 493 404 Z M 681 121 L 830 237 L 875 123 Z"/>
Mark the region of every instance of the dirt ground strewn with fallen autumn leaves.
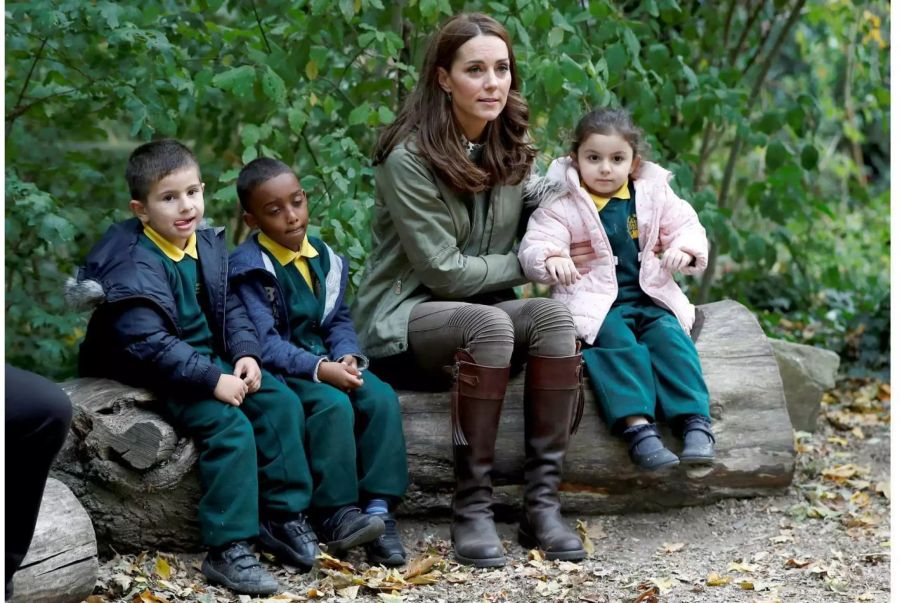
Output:
<path fill-rule="evenodd" d="M 890 386 L 844 380 L 825 395 L 819 429 L 797 433 L 784 495 L 723 500 L 664 513 L 570 517 L 592 548 L 579 563 L 548 562 L 498 528 L 508 563 L 452 562 L 449 523 L 405 521 L 412 561 L 369 568 L 360 554 L 309 574 L 270 568 L 276 601 L 585 603 L 888 601 Z M 89 603 L 260 601 L 210 587 L 201 555 L 147 552 L 102 561 Z"/>

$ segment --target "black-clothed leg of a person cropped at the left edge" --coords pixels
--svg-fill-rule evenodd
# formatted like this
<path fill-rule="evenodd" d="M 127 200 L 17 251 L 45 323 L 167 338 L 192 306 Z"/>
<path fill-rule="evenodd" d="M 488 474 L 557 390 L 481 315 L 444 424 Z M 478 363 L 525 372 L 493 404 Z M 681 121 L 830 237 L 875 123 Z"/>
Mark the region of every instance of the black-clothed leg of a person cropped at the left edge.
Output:
<path fill-rule="evenodd" d="M 72 420 L 55 383 L 6 365 L 6 598 L 37 522 L 44 484 Z"/>

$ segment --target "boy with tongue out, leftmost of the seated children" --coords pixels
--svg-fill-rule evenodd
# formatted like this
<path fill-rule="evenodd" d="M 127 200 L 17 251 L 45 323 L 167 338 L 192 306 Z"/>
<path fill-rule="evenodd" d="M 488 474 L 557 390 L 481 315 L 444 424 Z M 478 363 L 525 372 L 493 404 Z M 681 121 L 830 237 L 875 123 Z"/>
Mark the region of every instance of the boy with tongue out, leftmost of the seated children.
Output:
<path fill-rule="evenodd" d="M 78 275 L 99 302 L 79 372 L 159 394 L 161 412 L 199 449 L 203 574 L 240 593 L 274 593 L 249 540 L 305 570 L 319 552 L 302 513 L 312 481 L 300 401 L 259 368 L 256 330 L 228 294 L 224 229 L 201 227 L 193 153 L 150 142 L 125 174 L 137 217 L 113 224 Z"/>

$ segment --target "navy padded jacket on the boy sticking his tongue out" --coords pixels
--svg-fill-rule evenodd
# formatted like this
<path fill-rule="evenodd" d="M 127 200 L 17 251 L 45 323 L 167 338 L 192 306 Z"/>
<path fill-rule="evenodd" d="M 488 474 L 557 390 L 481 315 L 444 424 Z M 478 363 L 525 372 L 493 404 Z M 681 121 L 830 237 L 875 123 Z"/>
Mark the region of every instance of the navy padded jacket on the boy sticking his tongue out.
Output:
<path fill-rule="evenodd" d="M 211 398 L 221 370 L 182 340 L 175 298 L 160 258 L 138 245 L 137 218 L 109 227 L 87 256 L 77 280 L 96 281 L 104 299 L 88 323 L 79 373 L 147 387 L 180 399 Z M 224 229 L 197 231 L 201 305 L 213 332 L 213 348 L 231 362 L 262 357 L 253 323 L 240 299 L 228 295 Z"/>

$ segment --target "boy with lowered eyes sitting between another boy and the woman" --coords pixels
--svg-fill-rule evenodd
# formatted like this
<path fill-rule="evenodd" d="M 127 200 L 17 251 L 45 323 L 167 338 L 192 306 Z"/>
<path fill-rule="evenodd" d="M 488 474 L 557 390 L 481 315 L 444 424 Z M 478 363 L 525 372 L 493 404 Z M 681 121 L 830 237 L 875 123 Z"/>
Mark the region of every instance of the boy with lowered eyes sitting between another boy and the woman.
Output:
<path fill-rule="evenodd" d="M 390 385 L 370 372 L 363 379 L 368 360 L 344 302 L 347 262 L 307 236 L 306 193 L 281 161 L 251 161 L 237 190 L 245 222 L 261 232 L 232 252 L 230 278 L 257 326 L 263 366 L 306 411 L 319 538 L 332 554 L 365 544 L 371 563 L 402 565 L 389 512 L 408 481 L 400 405 Z M 367 527 L 376 518 L 383 534 Z"/>

